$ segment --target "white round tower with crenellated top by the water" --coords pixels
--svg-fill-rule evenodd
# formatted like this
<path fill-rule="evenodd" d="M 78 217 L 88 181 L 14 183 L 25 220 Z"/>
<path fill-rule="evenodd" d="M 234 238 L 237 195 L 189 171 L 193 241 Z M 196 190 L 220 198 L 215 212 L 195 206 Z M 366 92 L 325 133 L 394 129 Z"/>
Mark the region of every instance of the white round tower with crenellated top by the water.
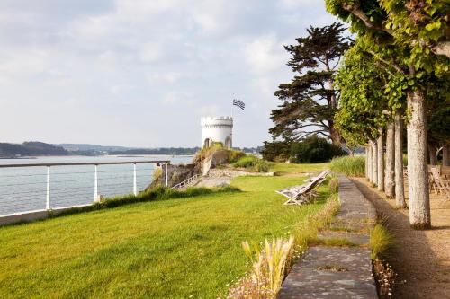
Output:
<path fill-rule="evenodd" d="M 214 142 L 221 142 L 226 148 L 231 148 L 233 140 L 233 118 L 202 117 L 202 148 L 209 147 Z"/>

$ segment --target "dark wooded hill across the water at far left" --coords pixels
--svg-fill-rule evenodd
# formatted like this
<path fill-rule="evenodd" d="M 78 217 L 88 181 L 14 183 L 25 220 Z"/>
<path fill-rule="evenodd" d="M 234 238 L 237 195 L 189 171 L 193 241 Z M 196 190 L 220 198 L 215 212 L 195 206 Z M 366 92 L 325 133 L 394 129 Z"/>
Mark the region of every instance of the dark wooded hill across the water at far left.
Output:
<path fill-rule="evenodd" d="M 37 141 L 24 142 L 23 144 L 0 143 L 0 157 L 67 154 L 69 154 L 68 151 L 61 146 Z"/>

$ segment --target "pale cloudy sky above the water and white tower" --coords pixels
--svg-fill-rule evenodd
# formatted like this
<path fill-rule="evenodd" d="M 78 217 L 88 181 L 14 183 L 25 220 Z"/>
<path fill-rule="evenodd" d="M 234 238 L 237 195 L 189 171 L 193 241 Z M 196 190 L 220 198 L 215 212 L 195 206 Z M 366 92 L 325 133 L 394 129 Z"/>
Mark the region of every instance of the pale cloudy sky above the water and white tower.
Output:
<path fill-rule="evenodd" d="M 237 98 L 233 145 L 262 145 L 283 46 L 336 21 L 321 0 L 2 0 L 0 142 L 200 146 Z"/>

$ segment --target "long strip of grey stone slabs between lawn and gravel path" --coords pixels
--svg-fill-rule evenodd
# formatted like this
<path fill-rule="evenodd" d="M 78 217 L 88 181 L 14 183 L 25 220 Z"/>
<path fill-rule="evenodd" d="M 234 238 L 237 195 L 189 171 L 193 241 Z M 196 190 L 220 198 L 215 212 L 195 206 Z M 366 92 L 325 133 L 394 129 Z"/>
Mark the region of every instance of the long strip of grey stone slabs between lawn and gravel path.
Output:
<path fill-rule="evenodd" d="M 377 298 L 368 228 L 374 224 L 372 204 L 347 177 L 339 176 L 341 209 L 331 231 L 321 239 L 345 239 L 352 247 L 314 246 L 294 265 L 278 299 Z"/>

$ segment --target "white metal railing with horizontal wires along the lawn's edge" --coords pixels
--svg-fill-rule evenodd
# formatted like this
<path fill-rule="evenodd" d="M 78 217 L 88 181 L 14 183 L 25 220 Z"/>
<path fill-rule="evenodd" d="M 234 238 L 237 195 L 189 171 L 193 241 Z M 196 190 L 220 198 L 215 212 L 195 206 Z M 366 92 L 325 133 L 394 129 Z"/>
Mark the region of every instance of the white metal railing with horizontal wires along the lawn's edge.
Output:
<path fill-rule="evenodd" d="M 147 160 L 147 161 L 120 161 L 120 162 L 90 162 L 90 163 L 19 163 L 0 164 L 0 215 L 13 215 L 29 211 L 43 210 L 45 195 L 45 210 L 52 207 L 79 207 L 91 205 L 89 193 L 94 191 L 94 202 L 102 197 L 100 188 L 110 196 L 118 196 L 126 193 L 138 195 L 138 171 L 148 171 L 145 178 L 151 177 L 155 168 L 139 168 L 138 164 L 156 164 L 165 168 L 165 184 L 168 186 L 169 160 Z M 132 170 L 121 169 L 121 165 L 132 165 Z M 102 166 L 116 167 L 115 170 L 99 171 Z M 64 168 L 71 167 L 70 169 Z M 74 168 L 78 167 L 78 170 Z M 85 169 L 94 166 L 94 170 Z M 46 171 L 37 171 L 40 168 Z M 79 168 L 82 168 L 81 170 Z M 51 169 L 59 169 L 52 172 Z M 64 169 L 66 171 L 61 171 Z M 43 173 L 42 173 L 43 172 Z M 106 173 L 106 175 L 104 175 Z M 102 174 L 103 178 L 99 177 Z M 112 175 L 111 175 L 112 174 Z M 94 176 L 94 178 L 92 177 Z M 148 177 L 148 180 L 150 180 Z M 54 180 L 54 179 L 63 180 Z M 142 187 L 147 187 L 150 181 Z M 105 181 L 105 183 L 103 183 Z M 102 182 L 102 185 L 99 185 Z M 92 189 L 94 185 L 94 190 Z M 41 189 L 39 189 L 41 188 Z M 130 192 L 127 190 L 130 188 Z M 90 189 L 90 191 L 88 190 Z M 6 191 L 6 192 L 5 192 Z M 92 194 L 92 193 L 91 193 Z M 53 198 L 63 198 L 53 202 Z M 67 199 L 72 198 L 72 199 Z M 76 200 L 75 200 L 76 198 Z M 76 203 L 83 202 L 83 205 Z M 7 212 L 7 213 L 6 213 Z"/>

